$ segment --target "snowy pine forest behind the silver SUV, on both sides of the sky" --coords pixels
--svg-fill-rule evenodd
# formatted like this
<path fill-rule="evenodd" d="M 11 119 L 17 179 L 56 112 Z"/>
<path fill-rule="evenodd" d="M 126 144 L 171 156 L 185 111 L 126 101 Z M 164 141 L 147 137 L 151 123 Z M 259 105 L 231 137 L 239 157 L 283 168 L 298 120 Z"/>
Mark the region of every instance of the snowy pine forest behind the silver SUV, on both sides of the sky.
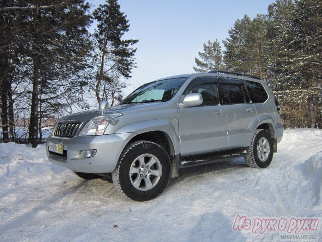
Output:
<path fill-rule="evenodd" d="M 44 128 L 88 109 L 88 97 L 120 101 L 136 65 L 138 40 L 124 39 L 128 30 L 117 0 L 93 12 L 85 0 L 0 0 L 2 140 L 27 138 L 36 147 Z M 322 128 L 322 2 L 276 0 L 228 33 L 224 49 L 218 40 L 204 44 L 194 70 L 259 76 L 278 98 L 286 128 Z"/>

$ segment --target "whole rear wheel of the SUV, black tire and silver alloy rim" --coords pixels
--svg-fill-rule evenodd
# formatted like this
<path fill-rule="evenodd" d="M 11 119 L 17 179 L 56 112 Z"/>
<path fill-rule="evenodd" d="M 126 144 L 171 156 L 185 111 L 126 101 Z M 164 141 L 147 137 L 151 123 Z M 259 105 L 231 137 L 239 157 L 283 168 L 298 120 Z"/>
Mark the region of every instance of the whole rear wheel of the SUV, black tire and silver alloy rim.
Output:
<path fill-rule="evenodd" d="M 265 168 L 273 159 L 273 140 L 266 130 L 256 130 L 250 147 L 247 149 L 245 162 L 254 168 Z"/>

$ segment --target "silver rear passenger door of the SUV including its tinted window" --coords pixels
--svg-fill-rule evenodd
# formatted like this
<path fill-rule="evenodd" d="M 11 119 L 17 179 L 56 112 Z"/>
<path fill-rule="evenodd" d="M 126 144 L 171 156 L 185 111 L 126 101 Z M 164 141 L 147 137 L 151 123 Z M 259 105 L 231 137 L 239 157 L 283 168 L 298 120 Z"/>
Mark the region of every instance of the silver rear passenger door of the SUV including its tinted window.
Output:
<path fill-rule="evenodd" d="M 256 109 L 241 79 L 226 77 L 219 79 L 221 102 L 227 114 L 228 148 L 247 147 L 254 135 L 250 124 L 257 118 Z"/>

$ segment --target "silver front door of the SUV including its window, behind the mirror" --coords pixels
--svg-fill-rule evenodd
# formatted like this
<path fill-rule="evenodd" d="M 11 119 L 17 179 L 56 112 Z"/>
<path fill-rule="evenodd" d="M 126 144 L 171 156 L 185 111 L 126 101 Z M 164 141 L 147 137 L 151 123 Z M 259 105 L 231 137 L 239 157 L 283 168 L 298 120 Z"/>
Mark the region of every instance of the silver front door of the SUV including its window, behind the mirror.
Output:
<path fill-rule="evenodd" d="M 226 112 L 219 104 L 217 77 L 199 77 L 192 80 L 183 95 L 188 93 L 200 93 L 203 103 L 177 109 L 181 155 L 227 149 Z"/>

